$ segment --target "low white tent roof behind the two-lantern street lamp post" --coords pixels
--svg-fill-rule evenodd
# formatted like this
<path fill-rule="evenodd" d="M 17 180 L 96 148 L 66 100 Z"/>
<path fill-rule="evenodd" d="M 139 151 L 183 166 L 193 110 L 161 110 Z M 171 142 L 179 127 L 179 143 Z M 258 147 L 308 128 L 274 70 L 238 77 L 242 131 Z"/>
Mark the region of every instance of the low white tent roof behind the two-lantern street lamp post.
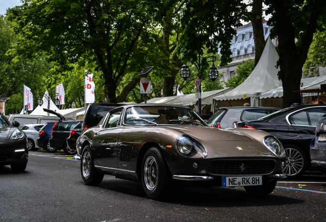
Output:
<path fill-rule="evenodd" d="M 216 97 L 218 95 L 223 95 L 230 90 L 231 90 L 230 88 L 226 88 L 226 89 L 218 89 L 218 90 L 201 93 L 201 110 L 206 106 L 208 106 L 209 108 L 211 107 L 213 97 Z M 147 103 L 163 103 L 163 104 L 194 106 L 196 111 L 198 111 L 198 99 L 196 99 L 195 94 L 153 98 L 147 100 Z"/>

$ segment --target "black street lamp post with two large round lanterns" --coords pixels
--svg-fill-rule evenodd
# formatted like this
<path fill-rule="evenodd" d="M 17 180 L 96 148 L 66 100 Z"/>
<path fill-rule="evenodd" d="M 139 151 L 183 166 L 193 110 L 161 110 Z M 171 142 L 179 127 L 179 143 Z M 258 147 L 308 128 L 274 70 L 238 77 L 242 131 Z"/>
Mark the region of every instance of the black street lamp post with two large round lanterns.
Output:
<path fill-rule="evenodd" d="M 201 60 L 200 60 L 201 58 Z M 218 71 L 217 71 L 217 68 L 214 66 L 214 62 L 216 61 L 216 57 L 214 55 L 210 56 L 210 57 L 200 57 L 200 55 L 198 55 L 198 61 L 195 61 L 195 66 L 198 70 L 198 78 L 200 78 L 200 73 L 201 73 L 201 64 L 202 64 L 202 60 L 205 59 L 212 59 L 210 61 L 207 61 L 207 62 L 213 62 L 213 65 L 211 66 L 210 70 L 208 71 L 208 77 L 214 82 L 217 77 L 218 77 Z M 190 76 L 190 69 L 189 67 L 184 64 L 182 65 L 181 69 L 180 69 L 180 75 L 181 77 L 186 81 L 189 76 Z M 198 98 L 198 114 L 200 115 L 201 114 L 201 84 L 199 84 L 199 98 Z"/>

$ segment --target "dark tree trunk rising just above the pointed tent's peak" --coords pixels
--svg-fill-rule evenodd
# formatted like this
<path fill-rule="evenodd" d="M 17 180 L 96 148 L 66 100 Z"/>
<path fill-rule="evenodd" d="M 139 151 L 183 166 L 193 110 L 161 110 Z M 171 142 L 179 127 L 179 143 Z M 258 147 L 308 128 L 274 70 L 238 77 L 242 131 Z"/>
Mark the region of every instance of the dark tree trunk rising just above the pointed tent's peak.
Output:
<path fill-rule="evenodd" d="M 252 5 L 252 28 L 255 41 L 255 67 L 259 62 L 262 51 L 265 48 L 265 38 L 262 28 L 262 0 L 254 0 Z"/>

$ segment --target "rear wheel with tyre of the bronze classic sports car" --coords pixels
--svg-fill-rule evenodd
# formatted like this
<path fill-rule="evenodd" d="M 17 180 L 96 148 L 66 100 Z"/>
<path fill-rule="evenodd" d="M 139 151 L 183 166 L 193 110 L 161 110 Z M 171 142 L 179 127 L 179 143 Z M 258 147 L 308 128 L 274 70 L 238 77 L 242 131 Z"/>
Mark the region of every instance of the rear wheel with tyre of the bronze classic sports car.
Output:
<path fill-rule="evenodd" d="M 99 173 L 94 166 L 94 156 L 89 145 L 85 146 L 81 155 L 80 172 L 85 184 L 97 186 L 102 182 L 104 174 Z"/>

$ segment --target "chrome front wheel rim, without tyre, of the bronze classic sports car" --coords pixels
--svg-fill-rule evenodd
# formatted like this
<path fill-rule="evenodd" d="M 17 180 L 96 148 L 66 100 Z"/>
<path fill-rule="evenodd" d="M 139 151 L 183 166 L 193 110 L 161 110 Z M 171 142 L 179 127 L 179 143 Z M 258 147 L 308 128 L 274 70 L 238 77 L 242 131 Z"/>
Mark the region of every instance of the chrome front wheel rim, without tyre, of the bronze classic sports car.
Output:
<path fill-rule="evenodd" d="M 148 157 L 145 162 L 144 180 L 148 190 L 154 190 L 157 186 L 157 164 L 153 157 Z"/>

